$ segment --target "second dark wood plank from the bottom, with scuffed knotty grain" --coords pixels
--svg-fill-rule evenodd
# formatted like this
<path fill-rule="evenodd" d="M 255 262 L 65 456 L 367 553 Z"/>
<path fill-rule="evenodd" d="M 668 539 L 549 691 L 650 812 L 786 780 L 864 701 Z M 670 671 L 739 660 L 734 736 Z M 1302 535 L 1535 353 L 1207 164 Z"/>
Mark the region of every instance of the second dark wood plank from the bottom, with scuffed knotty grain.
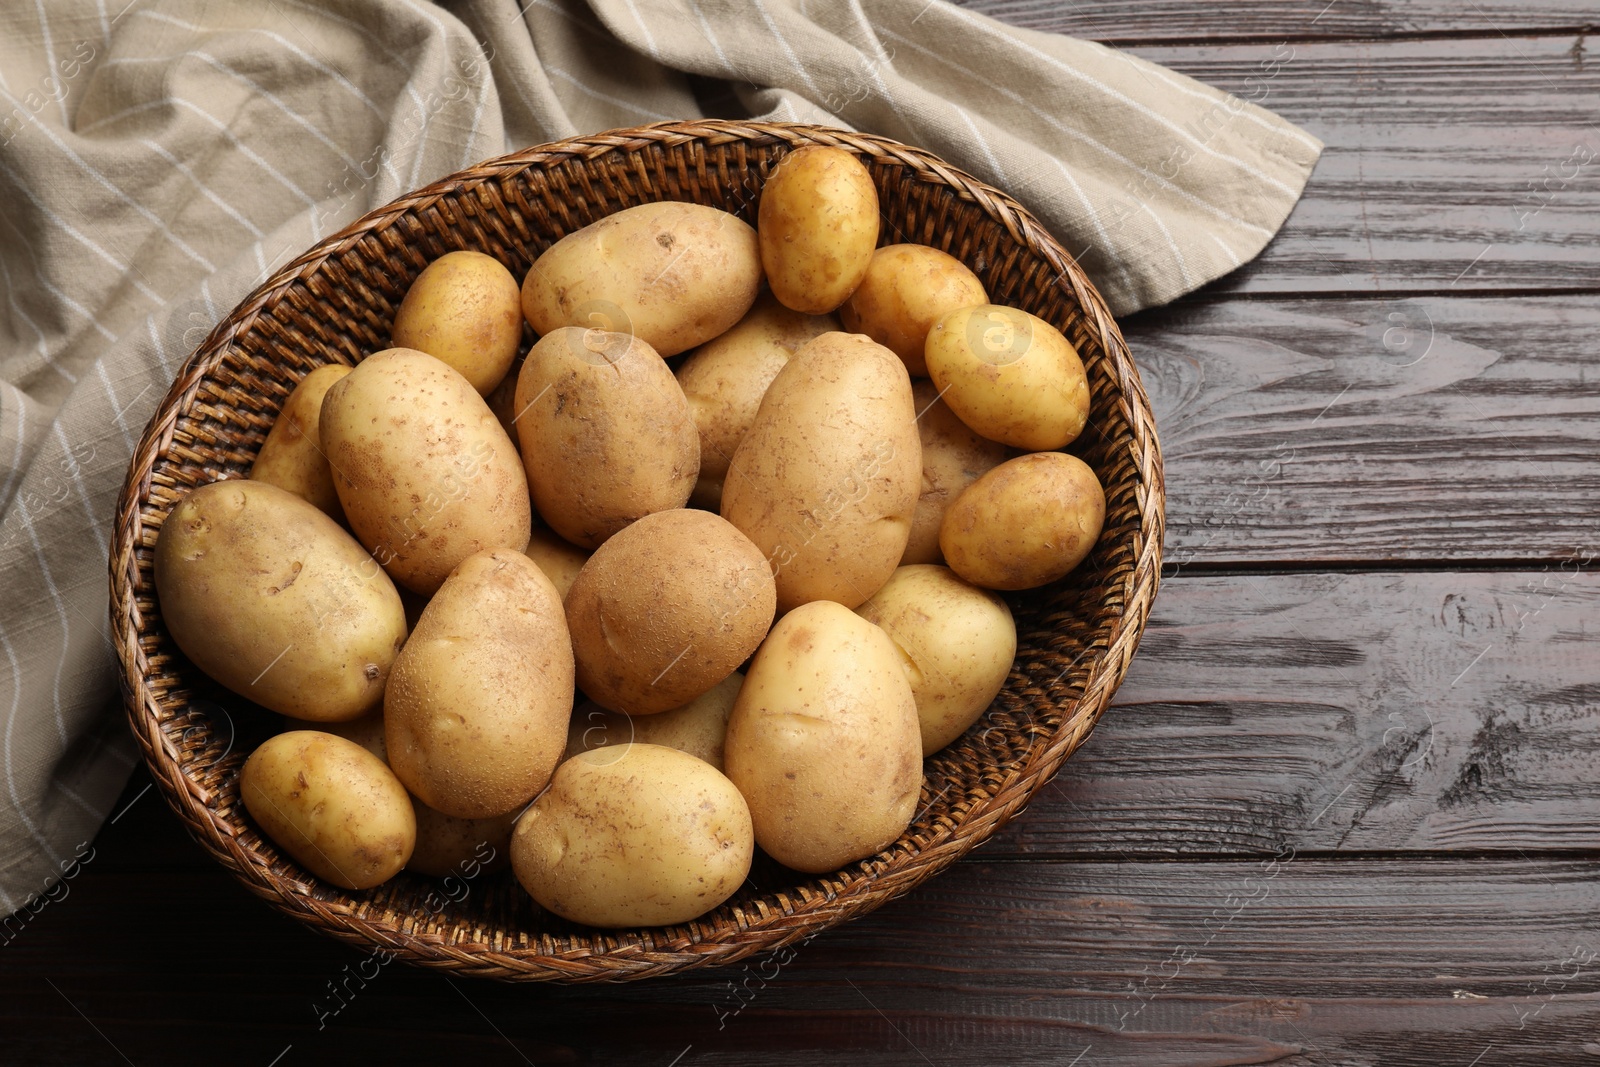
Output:
<path fill-rule="evenodd" d="M 1600 574 L 1179 577 L 982 854 L 1600 851 Z"/>

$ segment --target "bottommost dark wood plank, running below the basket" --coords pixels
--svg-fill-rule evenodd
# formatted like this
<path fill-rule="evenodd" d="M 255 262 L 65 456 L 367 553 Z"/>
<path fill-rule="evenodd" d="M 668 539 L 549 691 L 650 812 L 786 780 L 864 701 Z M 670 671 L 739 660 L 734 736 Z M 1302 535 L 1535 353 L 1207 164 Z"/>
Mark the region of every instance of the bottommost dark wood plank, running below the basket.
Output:
<path fill-rule="evenodd" d="M 328 1016 L 328 984 L 363 969 L 360 953 L 277 917 L 218 869 L 91 869 L 5 949 L 0 1057 L 1061 1065 L 1091 1049 L 1080 1064 L 1582 1062 L 1600 1027 L 1597 875 L 1597 861 L 1288 853 L 970 861 L 784 961 L 590 989 L 451 984 L 390 965 L 365 968 L 365 987 L 349 982 L 347 1006 Z"/>

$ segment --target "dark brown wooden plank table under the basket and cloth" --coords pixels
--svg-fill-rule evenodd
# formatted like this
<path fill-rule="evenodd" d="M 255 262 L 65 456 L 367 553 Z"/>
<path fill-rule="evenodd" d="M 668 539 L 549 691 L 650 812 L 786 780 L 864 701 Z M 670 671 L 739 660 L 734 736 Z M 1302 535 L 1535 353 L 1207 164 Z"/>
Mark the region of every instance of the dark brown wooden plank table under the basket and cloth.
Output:
<path fill-rule="evenodd" d="M 0 1061 L 1600 1064 L 1600 3 L 973 6 L 1328 144 L 1259 261 L 1125 323 L 1168 579 L 1027 814 L 782 966 L 363 984 L 141 771 L 0 950 Z"/>

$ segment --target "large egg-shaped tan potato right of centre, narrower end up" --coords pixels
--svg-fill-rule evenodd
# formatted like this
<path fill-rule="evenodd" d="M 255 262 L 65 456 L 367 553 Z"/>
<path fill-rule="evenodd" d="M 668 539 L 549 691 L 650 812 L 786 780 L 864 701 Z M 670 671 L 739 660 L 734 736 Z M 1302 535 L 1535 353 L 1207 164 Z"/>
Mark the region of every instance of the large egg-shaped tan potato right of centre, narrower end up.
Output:
<path fill-rule="evenodd" d="M 766 557 L 781 613 L 810 600 L 854 608 L 899 565 L 920 486 L 906 365 L 861 334 L 826 333 L 768 387 L 722 515 Z"/>

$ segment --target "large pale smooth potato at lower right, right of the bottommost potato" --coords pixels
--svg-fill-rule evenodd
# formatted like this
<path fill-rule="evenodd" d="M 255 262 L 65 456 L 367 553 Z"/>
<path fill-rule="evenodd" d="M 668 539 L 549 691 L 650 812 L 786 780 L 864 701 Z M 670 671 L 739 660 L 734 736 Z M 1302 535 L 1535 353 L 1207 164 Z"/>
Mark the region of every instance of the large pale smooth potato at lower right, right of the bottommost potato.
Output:
<path fill-rule="evenodd" d="M 821 873 L 888 848 L 922 790 L 922 728 L 894 641 L 827 600 L 786 614 L 733 704 L 726 763 L 757 843 L 786 867 Z"/>

